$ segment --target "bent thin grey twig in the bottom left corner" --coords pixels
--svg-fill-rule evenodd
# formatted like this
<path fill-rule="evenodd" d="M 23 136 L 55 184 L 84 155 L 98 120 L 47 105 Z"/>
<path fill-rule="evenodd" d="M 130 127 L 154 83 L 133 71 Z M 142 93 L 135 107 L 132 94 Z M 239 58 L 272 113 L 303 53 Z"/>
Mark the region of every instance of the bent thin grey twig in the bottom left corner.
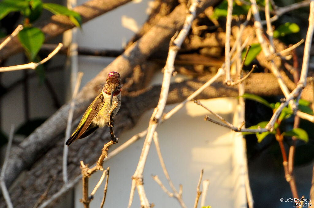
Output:
<path fill-rule="evenodd" d="M 7 169 L 7 165 L 8 165 L 9 155 L 10 155 L 10 151 L 11 151 L 11 147 L 12 147 L 13 136 L 14 136 L 14 125 L 11 125 L 8 147 L 7 147 L 7 151 L 5 152 L 4 162 L 3 162 L 3 166 L 2 166 L 1 174 L 0 174 L 0 185 L 1 185 L 2 195 L 3 195 L 3 198 L 4 198 L 5 203 L 7 204 L 8 208 L 13 208 L 13 204 L 12 204 L 7 186 L 4 182 L 4 173 L 5 173 L 5 170 Z"/>

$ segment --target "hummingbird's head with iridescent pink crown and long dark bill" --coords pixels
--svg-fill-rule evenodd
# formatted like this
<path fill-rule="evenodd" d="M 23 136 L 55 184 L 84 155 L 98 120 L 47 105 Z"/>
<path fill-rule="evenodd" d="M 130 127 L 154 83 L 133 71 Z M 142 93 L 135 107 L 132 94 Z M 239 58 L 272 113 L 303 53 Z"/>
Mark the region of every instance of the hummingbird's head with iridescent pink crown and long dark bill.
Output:
<path fill-rule="evenodd" d="M 102 93 L 111 95 L 110 107 L 112 104 L 112 97 L 118 95 L 121 92 L 121 89 L 122 83 L 120 74 L 118 72 L 109 72 L 106 79 L 106 84 L 102 89 Z"/>

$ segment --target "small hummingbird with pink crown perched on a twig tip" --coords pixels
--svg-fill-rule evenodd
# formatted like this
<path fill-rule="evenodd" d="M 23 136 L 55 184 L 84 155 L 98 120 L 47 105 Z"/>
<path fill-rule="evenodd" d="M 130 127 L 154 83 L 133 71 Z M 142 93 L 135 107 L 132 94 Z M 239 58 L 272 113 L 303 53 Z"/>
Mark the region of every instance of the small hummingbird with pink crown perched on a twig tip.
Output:
<path fill-rule="evenodd" d="M 108 112 L 111 109 L 112 102 L 117 102 L 117 108 L 113 110 L 112 118 L 120 109 L 121 90 L 122 83 L 120 74 L 118 72 L 109 72 L 106 78 L 106 84 L 102 88 L 101 93 L 88 106 L 78 127 L 65 144 L 69 146 L 74 140 L 88 136 L 98 129 L 98 127 L 108 125 Z"/>

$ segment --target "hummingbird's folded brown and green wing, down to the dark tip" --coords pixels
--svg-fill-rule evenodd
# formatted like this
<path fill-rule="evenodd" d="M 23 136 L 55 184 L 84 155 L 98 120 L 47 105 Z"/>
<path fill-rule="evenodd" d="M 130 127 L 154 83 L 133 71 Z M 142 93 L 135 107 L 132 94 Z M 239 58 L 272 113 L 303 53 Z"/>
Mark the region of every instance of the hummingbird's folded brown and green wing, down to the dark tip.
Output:
<path fill-rule="evenodd" d="M 72 136 L 68 139 L 68 141 L 66 141 L 65 144 L 67 146 L 69 146 L 74 140 L 83 138 L 81 136 L 86 132 L 86 130 L 88 129 L 88 127 L 90 126 L 90 124 L 92 123 L 95 116 L 98 114 L 103 105 L 104 96 L 102 95 L 102 93 L 100 93 L 95 98 L 95 100 L 89 105 L 82 119 L 80 120 L 78 127 L 73 132 Z M 87 135 L 85 134 L 85 136 Z"/>

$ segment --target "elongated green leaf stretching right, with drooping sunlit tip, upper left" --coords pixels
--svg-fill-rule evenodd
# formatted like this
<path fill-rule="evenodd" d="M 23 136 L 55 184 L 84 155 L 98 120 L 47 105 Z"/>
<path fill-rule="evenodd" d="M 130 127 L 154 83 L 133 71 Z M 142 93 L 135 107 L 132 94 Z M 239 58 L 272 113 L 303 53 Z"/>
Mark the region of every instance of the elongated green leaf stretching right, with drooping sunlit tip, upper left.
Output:
<path fill-rule="evenodd" d="M 43 3 L 43 8 L 47 9 L 54 14 L 63 14 L 70 18 L 75 26 L 80 27 L 82 25 L 82 17 L 79 13 L 69 10 L 68 8 L 54 3 Z"/>

